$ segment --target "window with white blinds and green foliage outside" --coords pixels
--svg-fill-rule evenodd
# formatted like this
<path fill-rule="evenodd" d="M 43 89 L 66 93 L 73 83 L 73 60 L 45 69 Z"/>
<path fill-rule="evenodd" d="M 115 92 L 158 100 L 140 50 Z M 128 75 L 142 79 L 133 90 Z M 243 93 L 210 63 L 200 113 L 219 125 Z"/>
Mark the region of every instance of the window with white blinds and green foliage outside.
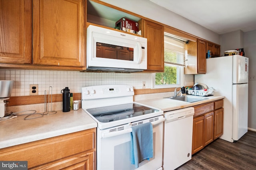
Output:
<path fill-rule="evenodd" d="M 152 74 L 154 88 L 181 86 L 184 79 L 186 40 L 164 33 L 164 72 Z"/>

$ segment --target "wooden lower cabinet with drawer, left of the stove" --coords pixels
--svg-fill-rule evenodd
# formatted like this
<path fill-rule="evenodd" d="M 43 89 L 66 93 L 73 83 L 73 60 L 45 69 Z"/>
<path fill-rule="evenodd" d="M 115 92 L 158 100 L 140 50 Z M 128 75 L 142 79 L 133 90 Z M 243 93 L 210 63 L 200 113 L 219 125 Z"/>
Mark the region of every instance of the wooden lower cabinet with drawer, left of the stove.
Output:
<path fill-rule="evenodd" d="M 0 160 L 26 160 L 28 169 L 93 170 L 96 128 L 0 149 Z"/>

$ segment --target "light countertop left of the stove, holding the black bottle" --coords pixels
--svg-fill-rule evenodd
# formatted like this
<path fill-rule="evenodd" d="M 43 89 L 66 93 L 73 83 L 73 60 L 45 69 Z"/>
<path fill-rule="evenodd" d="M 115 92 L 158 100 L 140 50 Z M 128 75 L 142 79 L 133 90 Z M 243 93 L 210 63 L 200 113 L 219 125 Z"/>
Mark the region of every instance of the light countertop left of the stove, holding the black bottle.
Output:
<path fill-rule="evenodd" d="M 36 119 L 24 120 L 24 117 L 18 115 L 0 122 L 0 149 L 97 127 L 96 121 L 81 108 L 60 110 Z"/>

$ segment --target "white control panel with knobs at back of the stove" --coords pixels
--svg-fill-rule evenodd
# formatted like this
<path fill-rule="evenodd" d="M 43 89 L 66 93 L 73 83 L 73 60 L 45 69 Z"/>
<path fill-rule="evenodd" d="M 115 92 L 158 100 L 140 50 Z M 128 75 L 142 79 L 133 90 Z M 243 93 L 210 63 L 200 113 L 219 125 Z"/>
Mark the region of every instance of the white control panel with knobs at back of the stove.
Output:
<path fill-rule="evenodd" d="M 133 87 L 129 85 L 101 85 L 82 87 L 82 100 L 117 98 L 133 95 Z"/>

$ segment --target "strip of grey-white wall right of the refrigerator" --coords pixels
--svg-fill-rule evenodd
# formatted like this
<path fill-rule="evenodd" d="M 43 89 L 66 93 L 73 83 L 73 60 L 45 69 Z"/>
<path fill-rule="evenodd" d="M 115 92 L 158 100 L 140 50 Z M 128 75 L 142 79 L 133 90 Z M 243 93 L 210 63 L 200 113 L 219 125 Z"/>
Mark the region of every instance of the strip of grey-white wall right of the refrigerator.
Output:
<path fill-rule="evenodd" d="M 244 53 L 249 58 L 249 77 L 256 76 L 256 30 L 244 33 Z M 248 127 L 256 131 L 256 80 L 248 84 Z"/>

